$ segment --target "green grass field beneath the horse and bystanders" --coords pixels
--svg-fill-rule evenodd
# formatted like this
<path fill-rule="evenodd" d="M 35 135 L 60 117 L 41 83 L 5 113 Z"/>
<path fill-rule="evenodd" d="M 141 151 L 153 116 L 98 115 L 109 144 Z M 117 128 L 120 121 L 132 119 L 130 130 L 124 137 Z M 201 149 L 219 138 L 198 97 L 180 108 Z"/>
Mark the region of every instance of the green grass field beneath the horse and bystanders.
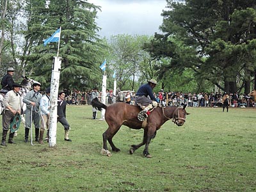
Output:
<path fill-rule="evenodd" d="M 24 143 L 22 125 L 17 144 L 0 147 L 0 191 L 256 191 L 256 109 L 187 111 L 182 127 L 157 131 L 152 159 L 144 147 L 129 154 L 143 130 L 125 126 L 113 138 L 121 152 L 100 155 L 107 124 L 91 120 L 91 106 L 67 107 L 72 142 L 58 124 L 56 148 Z"/>

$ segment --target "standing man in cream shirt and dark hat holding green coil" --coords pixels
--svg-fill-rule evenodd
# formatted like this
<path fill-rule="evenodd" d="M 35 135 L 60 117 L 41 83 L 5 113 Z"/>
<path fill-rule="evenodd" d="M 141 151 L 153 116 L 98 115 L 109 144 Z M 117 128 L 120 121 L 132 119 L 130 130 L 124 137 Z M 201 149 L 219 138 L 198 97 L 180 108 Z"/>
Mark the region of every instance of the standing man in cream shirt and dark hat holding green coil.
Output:
<path fill-rule="evenodd" d="M 17 113 L 20 114 L 20 111 L 21 111 L 21 97 L 19 94 L 21 85 L 13 83 L 12 86 L 13 86 L 13 90 L 11 90 L 10 92 L 7 92 L 4 97 L 4 111 L 3 111 L 3 119 L 2 119 L 3 136 L 2 136 L 2 142 L 1 142 L 1 145 L 3 146 L 6 145 L 5 143 L 6 135 L 13 117 Z M 14 132 L 10 131 L 8 143 L 14 143 L 13 136 L 14 136 Z"/>

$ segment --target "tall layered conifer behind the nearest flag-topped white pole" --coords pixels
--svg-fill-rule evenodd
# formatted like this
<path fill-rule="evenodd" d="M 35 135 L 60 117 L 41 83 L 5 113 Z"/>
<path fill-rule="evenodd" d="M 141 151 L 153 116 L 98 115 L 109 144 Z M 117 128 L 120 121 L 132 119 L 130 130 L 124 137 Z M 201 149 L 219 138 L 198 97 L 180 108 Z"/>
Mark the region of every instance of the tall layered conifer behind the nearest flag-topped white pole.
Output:
<path fill-rule="evenodd" d="M 85 1 L 29 1 L 28 38 L 29 55 L 24 63 L 26 73 L 43 84 L 51 79 L 52 57 L 56 56 L 58 44 L 43 46 L 43 40 L 61 26 L 60 88 L 87 89 L 99 82 L 100 39 L 95 23 L 98 6 Z M 33 45 L 33 46 L 32 46 Z M 42 76 L 44 74 L 44 76 Z"/>

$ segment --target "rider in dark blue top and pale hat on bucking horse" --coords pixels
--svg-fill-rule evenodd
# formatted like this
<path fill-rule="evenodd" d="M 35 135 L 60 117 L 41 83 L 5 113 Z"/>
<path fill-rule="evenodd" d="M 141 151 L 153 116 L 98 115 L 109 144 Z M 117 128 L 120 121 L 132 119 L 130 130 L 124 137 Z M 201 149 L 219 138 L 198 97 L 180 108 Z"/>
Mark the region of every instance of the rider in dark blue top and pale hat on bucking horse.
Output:
<path fill-rule="evenodd" d="M 150 109 L 153 109 L 158 105 L 157 99 L 153 94 L 153 88 L 156 86 L 156 84 L 157 81 L 155 79 L 150 79 L 148 83 L 141 85 L 138 92 L 136 92 L 135 104 L 141 105 L 141 108 L 143 109 L 142 113 L 144 113 L 145 116 L 148 115 L 147 112 Z M 148 96 L 150 98 L 148 98 Z"/>

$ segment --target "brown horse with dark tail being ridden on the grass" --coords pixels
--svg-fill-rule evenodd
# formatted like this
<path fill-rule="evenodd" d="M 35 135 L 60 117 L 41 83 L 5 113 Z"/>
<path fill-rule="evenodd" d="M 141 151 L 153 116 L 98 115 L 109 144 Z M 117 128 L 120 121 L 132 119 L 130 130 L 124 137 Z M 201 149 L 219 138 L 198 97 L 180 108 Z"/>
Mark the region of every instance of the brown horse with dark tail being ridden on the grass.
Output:
<path fill-rule="evenodd" d="M 142 145 L 145 145 L 143 150 L 143 155 L 145 157 L 151 157 L 148 153 L 148 145 L 150 140 L 156 136 L 156 131 L 168 120 L 171 120 L 178 126 L 182 126 L 186 121 L 186 115 L 189 113 L 186 112 L 185 108 L 177 108 L 167 106 L 165 108 L 157 107 L 155 108 L 150 115 L 148 115 L 145 122 L 138 120 L 138 113 L 141 111 L 139 106 L 132 106 L 123 102 L 117 102 L 110 106 L 106 106 L 99 102 L 97 98 L 92 100 L 92 106 L 99 109 L 106 109 L 105 120 L 108 124 L 108 129 L 102 134 L 103 137 L 103 151 L 107 156 L 111 156 L 108 151 L 107 140 L 111 145 L 112 151 L 119 152 L 120 149 L 116 148 L 112 138 L 115 136 L 116 132 L 120 129 L 122 125 L 126 125 L 131 129 L 144 129 L 143 141 L 138 145 L 131 145 L 130 154 L 133 154 L 135 150 L 140 148 Z"/>

